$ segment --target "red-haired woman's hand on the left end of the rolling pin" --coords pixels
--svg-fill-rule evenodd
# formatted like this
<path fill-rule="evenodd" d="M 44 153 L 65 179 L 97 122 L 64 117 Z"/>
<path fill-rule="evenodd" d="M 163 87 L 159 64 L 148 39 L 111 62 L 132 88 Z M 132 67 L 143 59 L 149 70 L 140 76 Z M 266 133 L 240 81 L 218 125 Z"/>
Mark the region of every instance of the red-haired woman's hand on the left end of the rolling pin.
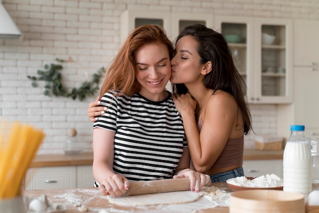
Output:
<path fill-rule="evenodd" d="M 129 189 L 129 181 L 122 175 L 112 175 L 99 184 L 99 190 L 104 195 L 120 196 Z"/>

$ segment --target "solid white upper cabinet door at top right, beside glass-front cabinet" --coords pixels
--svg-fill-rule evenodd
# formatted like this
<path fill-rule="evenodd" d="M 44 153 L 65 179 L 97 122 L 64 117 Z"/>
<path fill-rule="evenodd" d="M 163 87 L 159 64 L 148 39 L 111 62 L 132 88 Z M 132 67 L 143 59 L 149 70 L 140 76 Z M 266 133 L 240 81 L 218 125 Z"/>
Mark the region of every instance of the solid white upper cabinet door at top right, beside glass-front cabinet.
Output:
<path fill-rule="evenodd" d="M 319 66 L 319 21 L 294 21 L 294 65 Z M 318 71 L 318 70 L 317 70 Z"/>

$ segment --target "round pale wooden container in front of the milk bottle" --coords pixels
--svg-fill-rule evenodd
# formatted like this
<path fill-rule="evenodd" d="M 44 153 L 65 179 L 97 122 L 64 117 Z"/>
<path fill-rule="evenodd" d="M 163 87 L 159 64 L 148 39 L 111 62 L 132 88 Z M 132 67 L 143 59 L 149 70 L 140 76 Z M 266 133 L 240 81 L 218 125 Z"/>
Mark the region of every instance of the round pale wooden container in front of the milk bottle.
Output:
<path fill-rule="evenodd" d="M 230 194 L 229 213 L 301 213 L 304 195 L 279 190 L 245 190 Z"/>

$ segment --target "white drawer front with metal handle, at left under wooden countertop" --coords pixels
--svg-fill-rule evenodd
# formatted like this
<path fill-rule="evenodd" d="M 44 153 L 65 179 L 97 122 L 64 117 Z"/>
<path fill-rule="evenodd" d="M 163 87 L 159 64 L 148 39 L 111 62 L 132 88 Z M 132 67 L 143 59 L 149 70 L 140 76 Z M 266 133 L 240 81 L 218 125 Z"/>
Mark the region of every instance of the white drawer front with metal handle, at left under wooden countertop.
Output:
<path fill-rule="evenodd" d="M 24 178 L 25 190 L 76 187 L 76 167 L 30 168 Z"/>

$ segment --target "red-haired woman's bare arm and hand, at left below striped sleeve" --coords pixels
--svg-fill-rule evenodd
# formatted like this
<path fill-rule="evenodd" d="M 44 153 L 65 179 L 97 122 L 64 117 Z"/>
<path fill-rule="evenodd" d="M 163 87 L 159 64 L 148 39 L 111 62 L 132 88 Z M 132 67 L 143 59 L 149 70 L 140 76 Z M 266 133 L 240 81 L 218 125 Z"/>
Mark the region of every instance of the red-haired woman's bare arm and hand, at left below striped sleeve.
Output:
<path fill-rule="evenodd" d="M 93 174 L 104 194 L 120 196 L 129 189 L 129 181 L 113 171 L 115 132 L 93 129 Z"/>

